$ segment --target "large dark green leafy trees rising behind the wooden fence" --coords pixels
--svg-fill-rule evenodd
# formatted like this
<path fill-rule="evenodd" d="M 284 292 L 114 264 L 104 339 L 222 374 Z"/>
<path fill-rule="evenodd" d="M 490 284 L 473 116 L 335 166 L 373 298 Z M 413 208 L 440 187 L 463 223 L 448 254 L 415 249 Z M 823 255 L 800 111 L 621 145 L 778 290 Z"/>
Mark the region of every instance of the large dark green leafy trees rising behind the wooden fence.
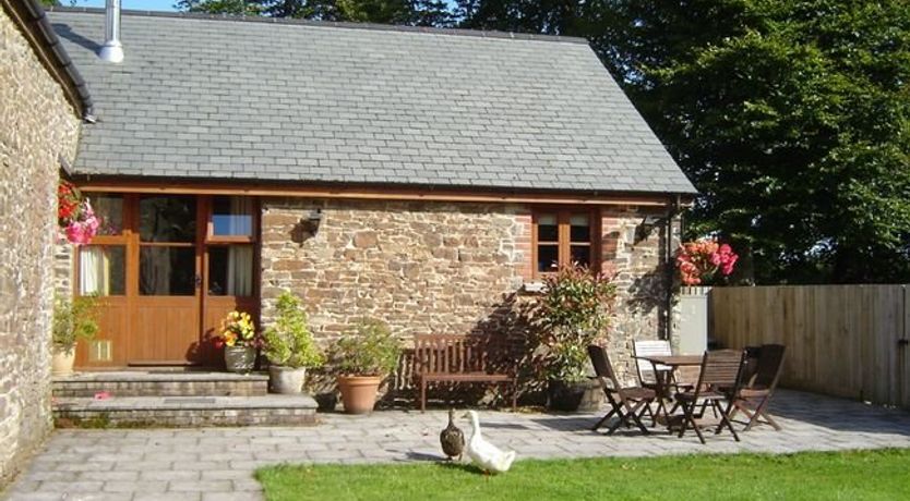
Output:
<path fill-rule="evenodd" d="M 906 0 L 459 0 L 465 26 L 587 37 L 759 283 L 910 279 Z"/>

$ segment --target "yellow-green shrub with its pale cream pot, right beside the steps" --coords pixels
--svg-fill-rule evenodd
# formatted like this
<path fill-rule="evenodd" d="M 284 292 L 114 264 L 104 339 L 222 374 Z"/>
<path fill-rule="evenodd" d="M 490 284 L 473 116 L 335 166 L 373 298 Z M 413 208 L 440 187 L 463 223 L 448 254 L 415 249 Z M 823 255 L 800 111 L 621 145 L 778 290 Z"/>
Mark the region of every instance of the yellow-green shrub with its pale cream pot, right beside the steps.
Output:
<path fill-rule="evenodd" d="M 300 393 L 307 368 L 321 367 L 323 356 L 307 327 L 307 313 L 300 308 L 300 300 L 283 292 L 276 308 L 278 317 L 263 333 L 270 386 L 275 393 Z"/>

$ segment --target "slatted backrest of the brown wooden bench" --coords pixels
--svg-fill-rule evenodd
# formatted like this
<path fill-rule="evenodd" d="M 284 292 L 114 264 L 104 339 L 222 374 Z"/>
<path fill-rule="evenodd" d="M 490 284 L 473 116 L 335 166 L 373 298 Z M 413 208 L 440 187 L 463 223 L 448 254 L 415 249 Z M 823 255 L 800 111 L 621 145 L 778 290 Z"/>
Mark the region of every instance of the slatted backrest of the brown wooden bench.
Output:
<path fill-rule="evenodd" d="M 508 343 L 486 334 L 417 334 L 414 358 L 416 374 L 503 374 L 512 365 Z"/>

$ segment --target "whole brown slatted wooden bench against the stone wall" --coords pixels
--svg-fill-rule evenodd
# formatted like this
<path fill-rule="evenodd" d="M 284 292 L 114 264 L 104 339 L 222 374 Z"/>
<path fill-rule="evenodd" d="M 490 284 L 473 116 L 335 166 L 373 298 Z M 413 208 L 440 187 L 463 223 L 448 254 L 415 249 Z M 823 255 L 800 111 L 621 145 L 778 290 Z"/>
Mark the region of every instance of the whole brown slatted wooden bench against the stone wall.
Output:
<path fill-rule="evenodd" d="M 507 341 L 482 334 L 417 334 L 414 357 L 414 374 L 420 386 L 420 412 L 427 408 L 427 386 L 431 382 L 511 384 L 515 411 L 518 379 Z"/>

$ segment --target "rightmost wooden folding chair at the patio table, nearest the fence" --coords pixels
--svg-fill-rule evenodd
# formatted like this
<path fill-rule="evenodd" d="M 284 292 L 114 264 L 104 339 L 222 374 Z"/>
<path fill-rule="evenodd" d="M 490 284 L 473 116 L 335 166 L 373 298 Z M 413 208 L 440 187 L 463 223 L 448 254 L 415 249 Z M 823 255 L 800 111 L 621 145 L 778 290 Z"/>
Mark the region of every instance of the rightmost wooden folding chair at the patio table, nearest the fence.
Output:
<path fill-rule="evenodd" d="M 742 411 L 749 418 L 744 431 L 749 431 L 757 424 L 768 424 L 777 431 L 781 430 L 780 425 L 774 420 L 768 413 L 768 403 L 777 389 L 777 382 L 783 369 L 783 353 L 787 347 L 782 344 L 763 344 L 757 349 L 757 363 L 755 372 L 751 378 L 733 393 L 732 419 L 737 412 Z M 762 420 L 761 418 L 764 418 Z"/>

